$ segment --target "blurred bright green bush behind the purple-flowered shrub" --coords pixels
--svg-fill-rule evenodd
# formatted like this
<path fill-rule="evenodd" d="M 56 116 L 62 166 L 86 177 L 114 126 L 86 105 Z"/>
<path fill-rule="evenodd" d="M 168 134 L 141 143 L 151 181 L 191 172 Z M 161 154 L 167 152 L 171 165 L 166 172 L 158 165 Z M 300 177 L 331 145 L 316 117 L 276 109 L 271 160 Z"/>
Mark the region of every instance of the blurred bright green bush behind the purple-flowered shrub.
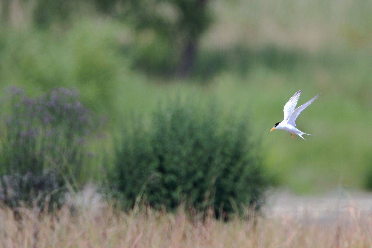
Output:
<path fill-rule="evenodd" d="M 131 80 L 130 59 L 121 54 L 121 26 L 84 19 L 63 32 L 0 30 L 0 84 L 29 93 L 76 87 L 91 110 L 117 113 L 112 99 Z M 128 79 L 129 78 L 129 79 Z"/>

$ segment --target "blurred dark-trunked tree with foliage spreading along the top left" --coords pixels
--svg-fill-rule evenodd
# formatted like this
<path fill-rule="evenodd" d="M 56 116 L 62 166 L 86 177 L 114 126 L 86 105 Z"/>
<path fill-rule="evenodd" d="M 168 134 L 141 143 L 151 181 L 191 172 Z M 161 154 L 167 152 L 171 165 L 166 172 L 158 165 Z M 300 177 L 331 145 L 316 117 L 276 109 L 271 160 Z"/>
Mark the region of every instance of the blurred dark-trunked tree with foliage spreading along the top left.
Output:
<path fill-rule="evenodd" d="M 9 19 L 10 6 L 0 3 L 0 20 Z M 198 55 L 198 42 L 211 23 L 209 0 L 22 0 L 38 28 L 68 24 L 74 16 L 97 12 L 124 20 L 135 30 L 129 49 L 135 65 L 148 73 L 187 77 Z M 18 2 L 17 2 L 18 3 Z"/>

